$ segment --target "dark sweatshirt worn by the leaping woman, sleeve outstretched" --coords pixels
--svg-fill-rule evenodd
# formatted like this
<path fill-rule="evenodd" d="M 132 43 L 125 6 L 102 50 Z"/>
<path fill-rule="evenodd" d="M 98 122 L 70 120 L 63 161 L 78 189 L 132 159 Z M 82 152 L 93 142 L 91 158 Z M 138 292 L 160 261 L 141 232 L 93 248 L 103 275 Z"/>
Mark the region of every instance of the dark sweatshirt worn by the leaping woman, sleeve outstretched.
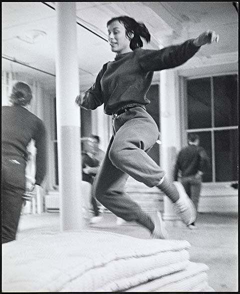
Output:
<path fill-rule="evenodd" d="M 80 107 L 95 109 L 104 103 L 104 112 L 116 113 L 126 105 L 146 105 L 146 93 L 153 71 L 179 66 L 191 58 L 199 46 L 189 39 L 180 45 L 160 50 L 137 48 L 116 55 L 114 61 L 103 65 L 95 83 L 81 96 Z"/>

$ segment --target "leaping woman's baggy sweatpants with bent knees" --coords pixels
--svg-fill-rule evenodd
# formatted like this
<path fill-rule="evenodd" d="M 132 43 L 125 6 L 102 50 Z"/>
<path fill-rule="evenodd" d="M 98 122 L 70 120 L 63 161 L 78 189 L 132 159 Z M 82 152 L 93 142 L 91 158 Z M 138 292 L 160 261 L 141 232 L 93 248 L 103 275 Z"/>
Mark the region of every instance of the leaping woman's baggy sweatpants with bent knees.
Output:
<path fill-rule="evenodd" d="M 145 215 L 125 192 L 128 175 L 148 187 L 164 176 L 162 169 L 147 155 L 158 139 L 153 118 L 140 106 L 130 108 L 113 120 L 113 136 L 92 185 L 92 195 L 109 211 L 126 221 Z"/>

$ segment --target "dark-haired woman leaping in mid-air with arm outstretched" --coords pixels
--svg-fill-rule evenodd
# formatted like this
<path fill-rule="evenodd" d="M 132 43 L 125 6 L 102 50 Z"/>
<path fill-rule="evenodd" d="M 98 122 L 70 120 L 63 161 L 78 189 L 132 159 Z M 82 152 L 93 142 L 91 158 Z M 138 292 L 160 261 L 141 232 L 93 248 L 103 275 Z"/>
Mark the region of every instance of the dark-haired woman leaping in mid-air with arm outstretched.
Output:
<path fill-rule="evenodd" d="M 112 115 L 113 136 L 93 184 L 97 200 L 125 221 L 135 221 L 147 228 L 152 238 L 165 239 L 166 231 L 160 214 L 152 220 L 139 205 L 124 193 L 128 175 L 148 187 L 158 187 L 170 198 L 182 221 L 194 222 L 194 205 L 179 182 L 170 182 L 163 170 L 147 155 L 158 138 L 158 128 L 146 112 L 150 103 L 146 93 L 153 71 L 176 67 L 191 58 L 201 45 L 218 40 L 213 31 L 201 33 L 180 45 L 161 50 L 142 49 L 142 40 L 150 41 L 143 23 L 128 16 L 107 22 L 108 41 L 116 53 L 114 61 L 105 63 L 95 83 L 76 97 L 85 109 L 104 104 L 104 112 Z"/>

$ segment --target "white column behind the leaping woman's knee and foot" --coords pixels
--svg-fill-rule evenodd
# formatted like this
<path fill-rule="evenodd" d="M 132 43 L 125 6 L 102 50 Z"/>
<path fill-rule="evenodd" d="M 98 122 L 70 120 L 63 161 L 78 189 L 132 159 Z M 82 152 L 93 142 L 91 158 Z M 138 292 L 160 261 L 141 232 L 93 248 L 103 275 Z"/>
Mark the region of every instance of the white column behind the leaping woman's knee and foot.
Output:
<path fill-rule="evenodd" d="M 161 167 L 172 179 L 177 150 L 180 148 L 179 93 L 177 76 L 173 69 L 160 71 L 160 126 L 161 126 Z M 164 196 L 164 221 L 178 220 L 172 202 Z M 175 224 L 175 222 L 174 222 Z"/>

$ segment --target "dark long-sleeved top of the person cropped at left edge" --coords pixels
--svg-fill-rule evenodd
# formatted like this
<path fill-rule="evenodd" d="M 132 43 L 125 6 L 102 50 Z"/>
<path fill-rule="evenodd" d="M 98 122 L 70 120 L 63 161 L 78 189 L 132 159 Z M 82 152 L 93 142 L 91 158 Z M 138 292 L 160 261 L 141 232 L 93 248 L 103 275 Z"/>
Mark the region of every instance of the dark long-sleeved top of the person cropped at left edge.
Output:
<path fill-rule="evenodd" d="M 40 185 L 46 173 L 46 134 L 43 122 L 21 106 L 2 106 L 1 155 L 2 159 L 27 161 L 26 147 L 35 141 L 35 184 Z"/>

